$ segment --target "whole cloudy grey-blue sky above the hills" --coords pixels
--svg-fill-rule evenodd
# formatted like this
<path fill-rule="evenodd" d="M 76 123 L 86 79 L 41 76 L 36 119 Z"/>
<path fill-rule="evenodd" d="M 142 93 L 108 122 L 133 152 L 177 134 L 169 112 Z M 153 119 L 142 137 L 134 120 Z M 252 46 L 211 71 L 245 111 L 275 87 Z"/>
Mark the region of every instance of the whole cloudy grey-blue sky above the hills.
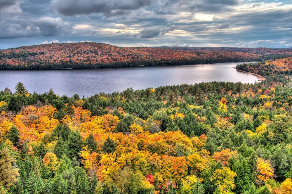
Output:
<path fill-rule="evenodd" d="M 116 46 L 292 47 L 292 0 L 0 0 L 0 49 Z"/>

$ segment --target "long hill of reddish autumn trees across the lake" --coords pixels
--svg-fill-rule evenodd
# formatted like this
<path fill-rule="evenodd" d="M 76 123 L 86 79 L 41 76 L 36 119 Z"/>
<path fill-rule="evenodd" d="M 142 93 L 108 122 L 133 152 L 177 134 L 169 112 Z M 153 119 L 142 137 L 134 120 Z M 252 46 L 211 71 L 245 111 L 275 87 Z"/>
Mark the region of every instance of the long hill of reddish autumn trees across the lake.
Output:
<path fill-rule="evenodd" d="M 117 47 L 102 43 L 41 44 L 0 50 L 0 69 L 62 69 L 261 61 L 292 49 Z"/>

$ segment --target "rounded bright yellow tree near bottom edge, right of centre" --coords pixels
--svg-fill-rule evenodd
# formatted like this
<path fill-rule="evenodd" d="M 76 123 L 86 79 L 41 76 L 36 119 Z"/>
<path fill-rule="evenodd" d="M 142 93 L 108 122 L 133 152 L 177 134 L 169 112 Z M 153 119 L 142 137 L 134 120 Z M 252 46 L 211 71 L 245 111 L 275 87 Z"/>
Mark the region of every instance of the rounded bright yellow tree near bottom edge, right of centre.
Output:
<path fill-rule="evenodd" d="M 215 170 L 213 176 L 211 176 L 210 181 L 215 181 L 217 189 L 220 193 L 231 193 L 231 190 L 236 186 L 234 184 L 234 177 L 237 174 L 229 167 L 223 167 L 222 169 Z"/>

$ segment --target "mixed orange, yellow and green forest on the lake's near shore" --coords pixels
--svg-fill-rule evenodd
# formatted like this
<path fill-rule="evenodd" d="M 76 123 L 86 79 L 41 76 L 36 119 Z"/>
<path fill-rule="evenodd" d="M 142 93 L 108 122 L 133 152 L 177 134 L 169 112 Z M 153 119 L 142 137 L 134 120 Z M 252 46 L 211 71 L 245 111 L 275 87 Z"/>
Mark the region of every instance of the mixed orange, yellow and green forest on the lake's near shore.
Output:
<path fill-rule="evenodd" d="M 0 193 L 291 194 L 291 65 L 291 57 L 237 65 L 266 78 L 254 84 L 88 98 L 5 88 Z"/>

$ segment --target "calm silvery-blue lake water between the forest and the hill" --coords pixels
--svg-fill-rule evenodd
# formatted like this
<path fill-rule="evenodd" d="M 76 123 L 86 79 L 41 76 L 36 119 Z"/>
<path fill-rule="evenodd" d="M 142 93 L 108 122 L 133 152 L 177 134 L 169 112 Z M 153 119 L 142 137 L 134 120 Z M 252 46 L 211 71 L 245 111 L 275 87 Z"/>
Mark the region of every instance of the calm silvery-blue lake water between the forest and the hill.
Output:
<path fill-rule="evenodd" d="M 22 82 L 33 93 L 48 92 L 50 88 L 62 96 L 92 96 L 96 93 L 113 93 L 132 87 L 146 89 L 177 84 L 228 81 L 254 83 L 256 76 L 238 72 L 238 63 L 203 65 L 144 66 L 82 70 L 7 70 L 0 71 L 0 91 L 6 87 L 15 92 Z"/>

